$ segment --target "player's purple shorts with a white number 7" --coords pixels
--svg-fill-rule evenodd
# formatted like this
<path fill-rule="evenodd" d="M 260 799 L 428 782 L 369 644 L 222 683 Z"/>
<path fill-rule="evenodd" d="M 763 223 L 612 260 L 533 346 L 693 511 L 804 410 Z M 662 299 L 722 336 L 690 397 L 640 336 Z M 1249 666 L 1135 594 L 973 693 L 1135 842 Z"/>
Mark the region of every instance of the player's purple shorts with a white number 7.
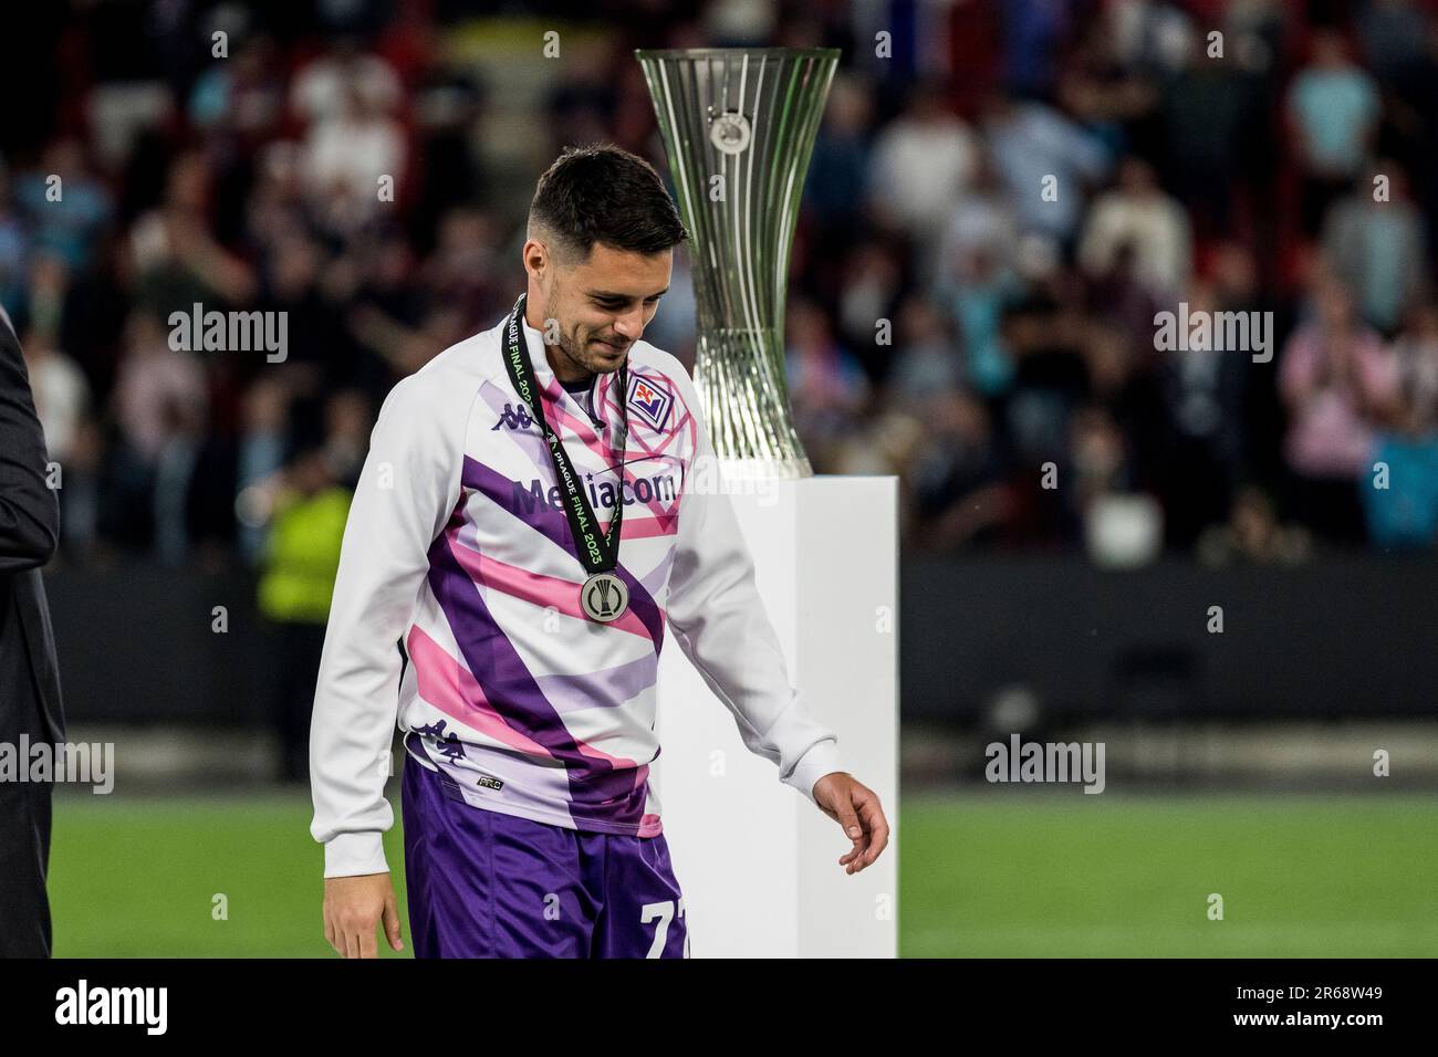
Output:
<path fill-rule="evenodd" d="M 466 804 L 408 756 L 404 870 L 416 958 L 687 958 L 664 836 L 581 833 Z"/>

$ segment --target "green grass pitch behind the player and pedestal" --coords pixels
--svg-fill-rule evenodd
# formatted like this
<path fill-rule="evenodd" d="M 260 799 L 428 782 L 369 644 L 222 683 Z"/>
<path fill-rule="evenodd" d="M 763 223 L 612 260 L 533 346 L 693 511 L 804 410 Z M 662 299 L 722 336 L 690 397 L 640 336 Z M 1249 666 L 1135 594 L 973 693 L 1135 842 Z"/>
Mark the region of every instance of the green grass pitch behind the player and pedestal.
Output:
<path fill-rule="evenodd" d="M 1064 792 L 1077 791 L 906 797 L 900 953 L 1438 955 L 1429 797 Z M 50 857 L 56 956 L 334 956 L 309 815 L 305 794 L 65 792 Z M 385 848 L 398 870 L 398 810 Z M 1208 919 L 1211 893 L 1224 920 Z M 407 926 L 406 945 L 403 956 Z"/>

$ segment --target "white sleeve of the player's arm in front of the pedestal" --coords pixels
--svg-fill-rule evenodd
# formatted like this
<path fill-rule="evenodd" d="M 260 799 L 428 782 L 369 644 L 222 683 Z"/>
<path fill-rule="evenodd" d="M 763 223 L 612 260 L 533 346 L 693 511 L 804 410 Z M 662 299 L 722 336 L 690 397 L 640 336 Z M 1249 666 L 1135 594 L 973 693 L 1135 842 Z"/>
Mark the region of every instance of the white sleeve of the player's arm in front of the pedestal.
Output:
<path fill-rule="evenodd" d="M 695 416 L 699 479 L 715 482 L 718 466 L 697 395 L 692 384 L 680 390 Z M 754 559 L 722 490 L 684 489 L 669 585 L 667 617 L 679 647 L 733 715 L 745 746 L 778 765 L 779 781 L 812 801 L 814 782 L 843 769 L 838 738 L 808 715 L 789 685 L 778 634 L 754 582 Z"/>

